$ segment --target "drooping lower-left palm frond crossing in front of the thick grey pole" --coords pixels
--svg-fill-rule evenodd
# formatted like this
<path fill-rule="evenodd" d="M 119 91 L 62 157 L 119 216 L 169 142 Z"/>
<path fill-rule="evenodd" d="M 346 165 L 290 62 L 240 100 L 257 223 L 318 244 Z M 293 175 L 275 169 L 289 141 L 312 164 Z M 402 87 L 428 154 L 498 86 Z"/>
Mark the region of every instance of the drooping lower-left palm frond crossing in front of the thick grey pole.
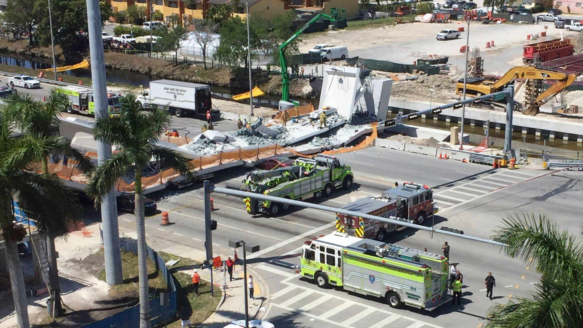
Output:
<path fill-rule="evenodd" d="M 114 153 L 89 175 L 89 183 L 85 187 L 87 196 L 95 198 L 99 203 L 114 186 L 115 180 L 124 176 L 127 166 L 131 165 L 125 152 Z"/>

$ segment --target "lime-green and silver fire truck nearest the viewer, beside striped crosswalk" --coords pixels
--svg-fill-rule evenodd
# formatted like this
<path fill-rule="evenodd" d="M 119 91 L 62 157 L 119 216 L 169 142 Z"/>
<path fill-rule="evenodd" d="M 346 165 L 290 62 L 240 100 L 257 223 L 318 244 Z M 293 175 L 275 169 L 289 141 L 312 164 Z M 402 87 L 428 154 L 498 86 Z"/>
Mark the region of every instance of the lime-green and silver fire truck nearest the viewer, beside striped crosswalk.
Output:
<path fill-rule="evenodd" d="M 444 256 L 337 231 L 304 243 L 300 274 L 322 288 L 378 296 L 392 308 L 433 310 L 451 299 Z"/>

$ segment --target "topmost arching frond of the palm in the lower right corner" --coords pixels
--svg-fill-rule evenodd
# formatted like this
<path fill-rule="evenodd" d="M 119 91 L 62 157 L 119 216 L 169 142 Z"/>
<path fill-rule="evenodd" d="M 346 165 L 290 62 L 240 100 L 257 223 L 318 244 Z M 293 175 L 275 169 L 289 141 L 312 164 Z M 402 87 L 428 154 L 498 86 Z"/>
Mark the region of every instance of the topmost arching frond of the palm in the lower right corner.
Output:
<path fill-rule="evenodd" d="M 494 232 L 494 240 L 508 246 L 504 252 L 513 258 L 536 263 L 543 276 L 583 277 L 583 248 L 568 232 L 543 215 L 514 214 L 503 220 L 504 227 Z"/>

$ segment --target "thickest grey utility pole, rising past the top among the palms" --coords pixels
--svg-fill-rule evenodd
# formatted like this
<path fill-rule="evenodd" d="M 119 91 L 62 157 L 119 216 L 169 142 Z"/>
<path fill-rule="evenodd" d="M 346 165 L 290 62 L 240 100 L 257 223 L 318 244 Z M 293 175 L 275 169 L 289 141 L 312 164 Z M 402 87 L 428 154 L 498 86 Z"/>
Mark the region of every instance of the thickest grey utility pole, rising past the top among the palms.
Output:
<path fill-rule="evenodd" d="M 89 50 L 91 54 L 91 79 L 96 118 L 109 118 L 107 108 L 106 67 L 103 61 L 103 38 L 101 37 L 101 12 L 99 0 L 87 1 L 87 25 L 89 26 Z M 111 145 L 97 141 L 97 163 L 111 158 Z M 106 264 L 106 282 L 118 285 L 122 282 L 120 232 L 117 222 L 117 203 L 114 186 L 101 201 L 103 224 L 103 250 Z"/>

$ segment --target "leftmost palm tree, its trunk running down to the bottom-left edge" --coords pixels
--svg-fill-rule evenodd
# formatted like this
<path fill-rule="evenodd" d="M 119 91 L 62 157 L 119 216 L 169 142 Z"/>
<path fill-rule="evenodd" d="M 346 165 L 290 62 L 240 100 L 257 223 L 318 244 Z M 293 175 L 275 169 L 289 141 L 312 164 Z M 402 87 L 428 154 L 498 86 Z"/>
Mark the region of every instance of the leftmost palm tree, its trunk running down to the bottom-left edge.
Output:
<path fill-rule="evenodd" d="M 55 175 L 36 173 L 38 161 L 27 156 L 35 149 L 44 149 L 49 141 L 24 135 L 14 138 L 14 121 L 6 108 L 0 109 L 0 231 L 8 253 L 8 271 L 16 317 L 20 328 L 29 327 L 24 276 L 17 244 L 26 231 L 15 220 L 11 201 L 37 222 L 41 233 L 66 226 L 59 218 L 74 213 L 75 192 L 66 188 Z M 52 216 L 54 215 L 54 218 Z M 51 218 L 48 219 L 47 218 Z"/>

